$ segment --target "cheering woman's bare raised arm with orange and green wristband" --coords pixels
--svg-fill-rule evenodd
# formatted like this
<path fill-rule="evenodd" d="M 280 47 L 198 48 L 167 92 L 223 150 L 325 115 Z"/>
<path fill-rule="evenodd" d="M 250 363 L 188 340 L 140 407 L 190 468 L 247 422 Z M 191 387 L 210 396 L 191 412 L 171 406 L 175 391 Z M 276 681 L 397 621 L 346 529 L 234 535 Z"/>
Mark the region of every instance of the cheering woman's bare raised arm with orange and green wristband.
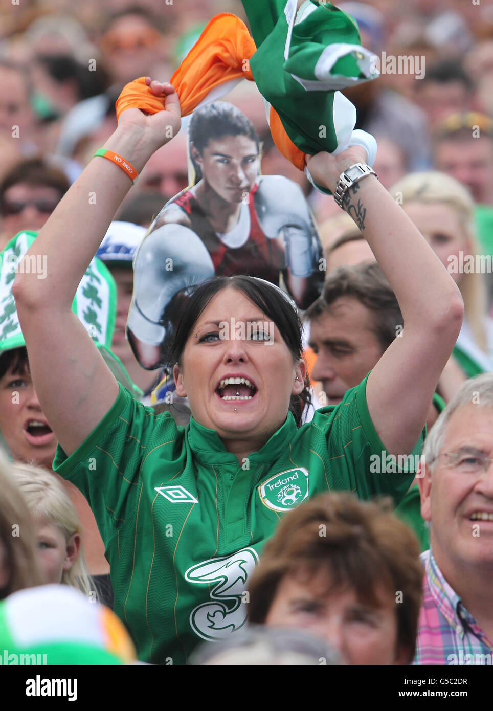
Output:
<path fill-rule="evenodd" d="M 181 120 L 173 87 L 149 78 L 147 84 L 156 96 L 166 97 L 166 110 L 146 116 L 139 109 L 127 109 L 104 144 L 138 173 L 170 134 L 178 132 Z M 117 381 L 71 306 L 80 279 L 131 186 L 119 166 L 93 158 L 27 253 L 46 255 L 48 276 L 37 279 L 26 270 L 16 275 L 13 285 L 38 399 L 67 454 L 92 432 L 118 394 Z"/>

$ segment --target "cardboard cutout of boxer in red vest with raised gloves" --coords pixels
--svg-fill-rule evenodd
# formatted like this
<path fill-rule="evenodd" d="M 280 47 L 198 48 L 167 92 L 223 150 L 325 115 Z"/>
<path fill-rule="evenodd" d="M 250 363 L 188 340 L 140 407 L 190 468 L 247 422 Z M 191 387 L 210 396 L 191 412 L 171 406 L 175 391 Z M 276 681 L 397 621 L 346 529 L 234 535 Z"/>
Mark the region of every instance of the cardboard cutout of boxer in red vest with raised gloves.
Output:
<path fill-rule="evenodd" d="M 260 144 L 237 107 L 197 109 L 188 132 L 191 186 L 151 225 L 134 260 L 127 335 L 148 370 L 168 365 L 180 305 L 196 284 L 247 274 L 283 284 L 300 309 L 319 295 L 325 272 L 303 191 L 283 176 L 261 176 Z"/>

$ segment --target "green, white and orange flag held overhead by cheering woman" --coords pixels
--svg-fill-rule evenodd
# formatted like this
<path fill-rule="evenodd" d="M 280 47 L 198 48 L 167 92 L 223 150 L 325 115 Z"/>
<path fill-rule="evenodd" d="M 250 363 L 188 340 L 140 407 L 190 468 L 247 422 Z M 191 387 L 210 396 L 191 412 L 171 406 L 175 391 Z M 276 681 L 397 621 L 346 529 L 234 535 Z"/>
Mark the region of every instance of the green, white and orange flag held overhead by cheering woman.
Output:
<path fill-rule="evenodd" d="M 264 98 L 273 141 L 298 169 L 305 170 L 305 154 L 340 153 L 352 144 L 367 149 L 371 165 L 376 141 L 354 131 L 356 109 L 340 93 L 379 74 L 354 19 L 316 0 L 299 8 L 298 0 L 243 0 L 243 6 L 251 35 L 236 16 L 215 16 L 171 77 L 182 115 L 246 78 Z M 121 92 L 117 115 L 131 107 L 155 113 L 163 106 L 141 77 Z"/>

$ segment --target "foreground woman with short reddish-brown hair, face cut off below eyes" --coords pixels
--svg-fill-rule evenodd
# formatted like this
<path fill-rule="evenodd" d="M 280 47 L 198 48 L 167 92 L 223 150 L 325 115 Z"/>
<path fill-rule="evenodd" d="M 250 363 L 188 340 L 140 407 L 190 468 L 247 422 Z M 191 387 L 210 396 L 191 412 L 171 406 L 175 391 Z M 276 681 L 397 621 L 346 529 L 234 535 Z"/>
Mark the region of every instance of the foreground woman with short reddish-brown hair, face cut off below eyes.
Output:
<path fill-rule="evenodd" d="M 349 664 L 408 664 L 423 568 L 415 535 L 390 501 L 316 496 L 266 543 L 249 586 L 249 621 L 300 627 Z"/>

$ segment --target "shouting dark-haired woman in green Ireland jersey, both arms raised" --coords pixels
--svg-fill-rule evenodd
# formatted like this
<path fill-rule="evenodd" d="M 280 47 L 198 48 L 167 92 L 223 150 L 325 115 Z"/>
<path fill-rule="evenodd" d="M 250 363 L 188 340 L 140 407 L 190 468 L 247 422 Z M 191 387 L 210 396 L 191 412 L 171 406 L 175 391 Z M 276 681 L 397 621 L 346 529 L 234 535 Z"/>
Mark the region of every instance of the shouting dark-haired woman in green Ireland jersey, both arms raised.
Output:
<path fill-rule="evenodd" d="M 147 83 L 166 96 L 165 110 L 127 109 L 104 146 L 135 171 L 166 143 L 169 127 L 180 127 L 173 87 Z M 90 502 L 114 609 L 142 661 L 185 663 L 201 639 L 242 627 L 249 577 L 283 512 L 334 489 L 399 501 L 413 480 L 406 466 L 370 471 L 369 458 L 385 463 L 387 453 L 421 451 L 462 299 L 378 179 L 352 168 L 365 157 L 353 146 L 312 156 L 308 166 L 332 192 L 340 182 L 345 209 L 396 293 L 404 328 L 362 383 L 308 424 L 300 425 L 307 383 L 298 314 L 277 287 L 252 277 L 216 277 L 185 306 L 173 373 L 192 412 L 186 429 L 114 380 L 71 304 L 131 187 L 120 162 L 94 157 L 33 242 L 28 255 L 47 255 L 48 277 L 16 276 L 33 381 L 60 443 L 53 468 Z M 350 180 L 341 182 L 343 172 Z"/>

